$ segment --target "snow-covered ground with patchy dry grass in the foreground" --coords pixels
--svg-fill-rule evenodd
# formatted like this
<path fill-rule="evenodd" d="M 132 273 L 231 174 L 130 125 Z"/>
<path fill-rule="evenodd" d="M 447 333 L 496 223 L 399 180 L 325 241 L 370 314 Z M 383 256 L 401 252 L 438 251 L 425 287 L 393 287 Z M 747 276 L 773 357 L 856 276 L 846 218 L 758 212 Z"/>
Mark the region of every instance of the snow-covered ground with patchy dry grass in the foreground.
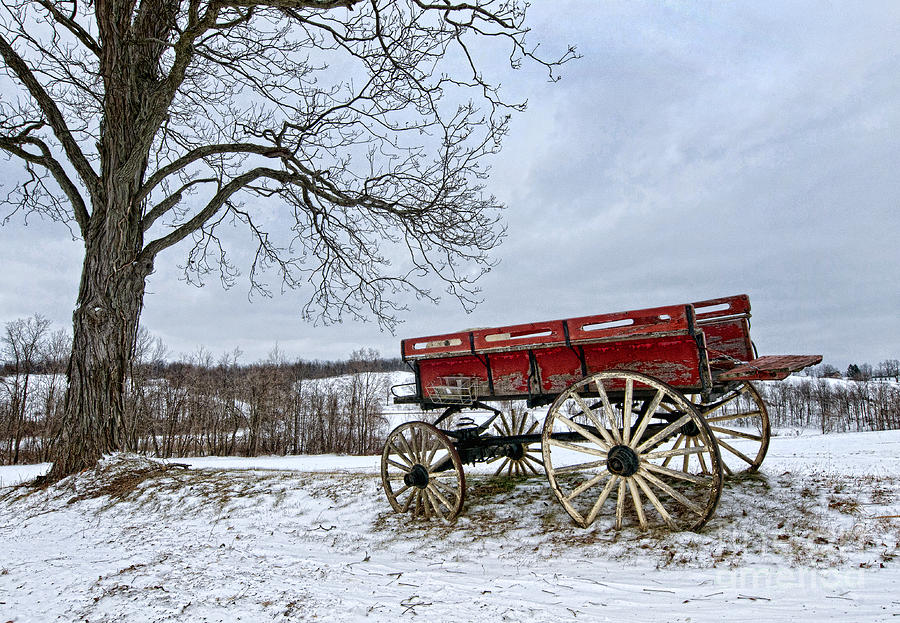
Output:
<path fill-rule="evenodd" d="M 782 431 L 700 534 L 582 530 L 543 477 L 468 471 L 445 525 L 377 457 L 145 462 L 0 468 L 0 621 L 900 620 L 900 431 Z"/>

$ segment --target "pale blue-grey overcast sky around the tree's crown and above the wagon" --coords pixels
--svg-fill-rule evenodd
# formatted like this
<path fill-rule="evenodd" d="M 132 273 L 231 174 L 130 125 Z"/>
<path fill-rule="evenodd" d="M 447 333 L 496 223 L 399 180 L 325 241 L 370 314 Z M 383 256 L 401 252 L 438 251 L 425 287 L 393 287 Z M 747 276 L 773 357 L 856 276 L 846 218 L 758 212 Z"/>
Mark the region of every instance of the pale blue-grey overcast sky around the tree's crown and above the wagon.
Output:
<path fill-rule="evenodd" d="M 582 58 L 529 100 L 488 191 L 509 235 L 466 315 L 413 301 L 397 335 L 304 323 L 303 291 L 248 301 L 246 281 L 179 281 L 157 259 L 143 325 L 171 357 L 387 356 L 401 337 L 747 293 L 760 354 L 845 368 L 900 357 L 900 3 L 541 2 L 542 48 Z M 9 164 L 2 163 L 3 170 Z M 71 321 L 80 243 L 59 225 L 0 229 L 0 324 Z"/>

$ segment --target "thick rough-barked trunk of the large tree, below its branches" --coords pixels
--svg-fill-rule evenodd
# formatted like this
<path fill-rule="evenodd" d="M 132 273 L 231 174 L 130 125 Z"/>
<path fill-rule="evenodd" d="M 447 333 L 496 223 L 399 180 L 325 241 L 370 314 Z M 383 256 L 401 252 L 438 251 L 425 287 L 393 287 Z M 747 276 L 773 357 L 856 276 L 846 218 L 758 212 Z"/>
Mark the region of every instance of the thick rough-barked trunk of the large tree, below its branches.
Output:
<path fill-rule="evenodd" d="M 139 232 L 123 223 L 85 241 L 81 287 L 73 314 L 65 422 L 61 443 L 56 444 L 54 452 L 51 480 L 92 467 L 106 453 L 128 449 L 126 381 L 144 285 L 153 269 L 151 262 L 134 261 L 135 242 L 139 245 L 141 240 Z"/>

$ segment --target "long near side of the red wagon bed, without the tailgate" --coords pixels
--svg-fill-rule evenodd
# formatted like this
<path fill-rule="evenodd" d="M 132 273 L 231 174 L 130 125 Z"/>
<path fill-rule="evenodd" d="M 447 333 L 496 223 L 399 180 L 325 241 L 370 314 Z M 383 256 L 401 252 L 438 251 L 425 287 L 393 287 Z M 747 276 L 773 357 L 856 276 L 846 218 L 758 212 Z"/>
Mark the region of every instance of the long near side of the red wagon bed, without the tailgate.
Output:
<path fill-rule="evenodd" d="M 426 408 L 479 398 L 526 398 L 536 406 L 588 374 L 617 368 L 693 390 L 712 383 L 691 305 L 405 339 L 401 355 L 416 391 L 395 402 Z"/>

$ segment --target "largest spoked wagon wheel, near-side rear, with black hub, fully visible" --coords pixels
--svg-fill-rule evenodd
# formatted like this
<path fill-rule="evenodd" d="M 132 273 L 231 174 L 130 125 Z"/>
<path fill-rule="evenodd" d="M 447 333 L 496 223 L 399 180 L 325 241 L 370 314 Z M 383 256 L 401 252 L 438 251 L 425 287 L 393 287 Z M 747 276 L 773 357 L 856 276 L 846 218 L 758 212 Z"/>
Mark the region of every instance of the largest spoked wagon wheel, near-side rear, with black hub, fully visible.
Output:
<path fill-rule="evenodd" d="M 684 394 L 644 374 L 600 372 L 560 394 L 541 447 L 550 487 L 582 527 L 698 530 L 722 493 L 709 426 Z"/>

